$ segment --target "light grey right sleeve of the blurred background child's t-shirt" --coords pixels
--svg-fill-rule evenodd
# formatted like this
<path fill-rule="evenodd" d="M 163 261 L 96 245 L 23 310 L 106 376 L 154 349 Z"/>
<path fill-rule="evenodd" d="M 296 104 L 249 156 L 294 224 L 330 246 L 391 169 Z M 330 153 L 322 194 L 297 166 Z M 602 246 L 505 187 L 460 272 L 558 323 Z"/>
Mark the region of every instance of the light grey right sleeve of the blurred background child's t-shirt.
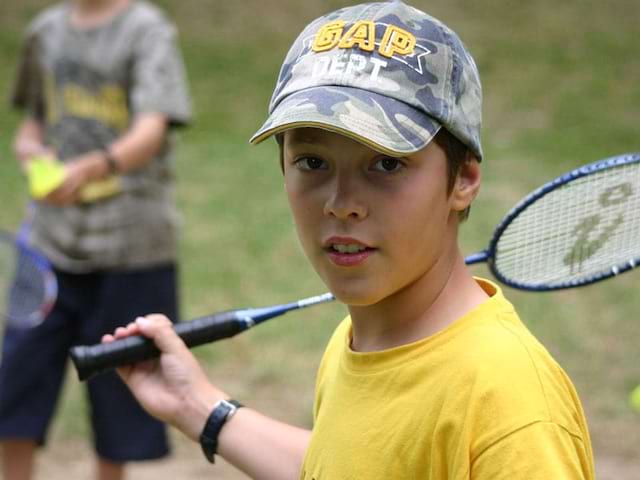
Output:
<path fill-rule="evenodd" d="M 131 103 L 136 113 L 164 113 L 170 125 L 185 125 L 191 119 L 184 62 L 169 23 L 145 29 L 135 47 Z"/>

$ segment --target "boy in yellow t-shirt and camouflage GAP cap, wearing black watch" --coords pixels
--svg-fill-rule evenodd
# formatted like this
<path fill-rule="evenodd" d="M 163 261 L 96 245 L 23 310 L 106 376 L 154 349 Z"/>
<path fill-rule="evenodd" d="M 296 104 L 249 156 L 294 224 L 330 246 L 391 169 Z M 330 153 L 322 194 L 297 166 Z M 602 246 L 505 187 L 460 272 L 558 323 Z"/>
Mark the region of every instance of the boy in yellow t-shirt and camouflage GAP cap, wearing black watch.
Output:
<path fill-rule="evenodd" d="M 145 408 L 253 478 L 593 478 L 569 379 L 457 245 L 480 104 L 471 56 L 423 12 L 371 3 L 312 22 L 252 141 L 276 135 L 305 254 L 350 313 L 313 430 L 229 401 L 157 315 L 115 332 L 162 351 L 120 370 Z"/>

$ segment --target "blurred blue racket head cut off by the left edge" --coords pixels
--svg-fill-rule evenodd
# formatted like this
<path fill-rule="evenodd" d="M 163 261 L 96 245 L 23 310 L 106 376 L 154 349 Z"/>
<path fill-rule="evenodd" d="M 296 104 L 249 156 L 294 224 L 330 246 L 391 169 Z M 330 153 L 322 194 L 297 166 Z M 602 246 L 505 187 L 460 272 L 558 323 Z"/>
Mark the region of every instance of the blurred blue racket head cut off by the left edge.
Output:
<path fill-rule="evenodd" d="M 36 327 L 53 308 L 57 295 L 49 261 L 0 231 L 0 322 L 12 328 Z"/>

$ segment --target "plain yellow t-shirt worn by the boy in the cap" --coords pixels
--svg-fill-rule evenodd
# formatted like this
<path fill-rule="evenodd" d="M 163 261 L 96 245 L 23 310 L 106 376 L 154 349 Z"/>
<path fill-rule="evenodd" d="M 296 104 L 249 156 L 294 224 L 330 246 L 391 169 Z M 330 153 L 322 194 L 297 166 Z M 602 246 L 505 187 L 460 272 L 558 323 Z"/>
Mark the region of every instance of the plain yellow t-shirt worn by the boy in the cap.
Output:
<path fill-rule="evenodd" d="M 571 381 L 500 289 L 437 334 L 372 353 L 336 329 L 318 372 L 304 480 L 594 478 Z"/>

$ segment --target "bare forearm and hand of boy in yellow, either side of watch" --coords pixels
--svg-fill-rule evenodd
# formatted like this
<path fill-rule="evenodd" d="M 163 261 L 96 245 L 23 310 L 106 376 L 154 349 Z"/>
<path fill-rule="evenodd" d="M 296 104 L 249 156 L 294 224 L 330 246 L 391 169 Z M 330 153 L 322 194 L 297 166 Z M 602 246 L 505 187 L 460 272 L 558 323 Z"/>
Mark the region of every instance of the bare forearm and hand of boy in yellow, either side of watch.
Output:
<path fill-rule="evenodd" d="M 162 355 L 118 373 L 149 413 L 198 442 L 214 405 L 229 397 L 209 382 L 166 317 L 150 315 L 115 332 L 115 338 L 128 335 L 153 339 Z M 251 478 L 297 479 L 310 436 L 308 430 L 244 407 L 223 426 L 218 453 Z"/>

